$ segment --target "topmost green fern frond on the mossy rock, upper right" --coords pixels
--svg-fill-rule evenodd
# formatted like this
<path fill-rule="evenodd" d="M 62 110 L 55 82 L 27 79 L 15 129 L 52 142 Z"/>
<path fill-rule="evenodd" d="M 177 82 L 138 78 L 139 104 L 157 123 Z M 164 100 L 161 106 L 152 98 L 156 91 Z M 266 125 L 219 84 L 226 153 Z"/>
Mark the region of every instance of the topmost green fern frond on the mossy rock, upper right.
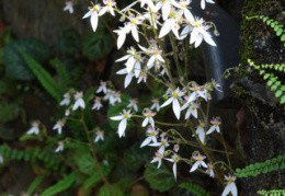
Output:
<path fill-rule="evenodd" d="M 252 20 L 252 19 L 260 19 L 266 25 L 271 26 L 273 31 L 276 33 L 276 35 L 281 37 L 281 42 L 284 43 L 284 47 L 285 47 L 285 30 L 283 30 L 284 27 L 283 24 L 280 24 L 278 21 L 274 21 L 273 19 L 270 19 L 269 16 L 264 16 L 264 15 L 247 16 L 247 20 Z"/>

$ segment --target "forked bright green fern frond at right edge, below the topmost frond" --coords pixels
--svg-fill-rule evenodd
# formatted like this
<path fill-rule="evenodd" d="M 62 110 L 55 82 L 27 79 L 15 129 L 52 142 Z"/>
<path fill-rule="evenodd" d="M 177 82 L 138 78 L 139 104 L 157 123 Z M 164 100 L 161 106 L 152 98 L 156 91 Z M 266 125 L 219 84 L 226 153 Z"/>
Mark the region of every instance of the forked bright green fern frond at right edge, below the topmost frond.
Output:
<path fill-rule="evenodd" d="M 275 92 L 275 97 L 281 100 L 280 103 L 285 104 L 285 84 L 283 84 L 274 73 L 267 72 L 270 69 L 285 72 L 285 64 L 256 66 L 251 59 L 248 59 L 248 62 L 255 70 L 259 70 L 260 76 L 263 76 L 263 80 L 267 81 L 267 87 L 271 88 L 271 91 Z"/>

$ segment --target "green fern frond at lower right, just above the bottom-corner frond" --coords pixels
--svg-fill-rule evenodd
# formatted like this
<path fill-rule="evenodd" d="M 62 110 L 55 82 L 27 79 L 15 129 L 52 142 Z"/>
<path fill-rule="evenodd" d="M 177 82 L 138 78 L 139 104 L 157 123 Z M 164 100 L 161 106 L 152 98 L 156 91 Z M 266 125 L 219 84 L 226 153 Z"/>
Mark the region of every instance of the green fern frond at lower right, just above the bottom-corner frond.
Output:
<path fill-rule="evenodd" d="M 244 169 L 237 169 L 236 176 L 249 177 L 256 176 L 261 173 L 269 173 L 272 171 L 284 170 L 285 169 L 285 155 L 278 155 L 277 158 L 273 158 L 272 160 L 266 160 L 263 163 L 254 163 L 246 166 Z"/>

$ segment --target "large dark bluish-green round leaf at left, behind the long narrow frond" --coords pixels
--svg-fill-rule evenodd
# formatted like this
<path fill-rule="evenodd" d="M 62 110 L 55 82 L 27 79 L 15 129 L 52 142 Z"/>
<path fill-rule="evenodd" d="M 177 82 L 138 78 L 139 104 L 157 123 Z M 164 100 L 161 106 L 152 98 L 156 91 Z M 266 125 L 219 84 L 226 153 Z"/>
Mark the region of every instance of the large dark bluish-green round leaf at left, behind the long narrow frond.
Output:
<path fill-rule="evenodd" d="M 4 65 L 5 70 L 19 80 L 32 80 L 35 78 L 34 73 L 27 66 L 26 61 L 19 54 L 21 49 L 31 58 L 38 62 L 44 62 L 50 56 L 49 48 L 45 43 L 35 39 L 26 38 L 10 43 L 4 49 Z"/>

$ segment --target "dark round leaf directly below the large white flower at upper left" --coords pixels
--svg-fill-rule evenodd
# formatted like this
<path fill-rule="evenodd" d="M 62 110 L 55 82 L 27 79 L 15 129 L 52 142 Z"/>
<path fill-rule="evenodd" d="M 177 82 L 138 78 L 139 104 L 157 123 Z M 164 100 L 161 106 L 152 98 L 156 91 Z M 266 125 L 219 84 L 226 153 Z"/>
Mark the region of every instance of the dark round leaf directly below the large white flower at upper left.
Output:
<path fill-rule="evenodd" d="M 101 59 L 105 57 L 114 47 L 114 43 L 110 34 L 105 33 L 105 28 L 99 26 L 96 33 L 90 32 L 83 38 L 83 54 L 90 60 Z"/>

